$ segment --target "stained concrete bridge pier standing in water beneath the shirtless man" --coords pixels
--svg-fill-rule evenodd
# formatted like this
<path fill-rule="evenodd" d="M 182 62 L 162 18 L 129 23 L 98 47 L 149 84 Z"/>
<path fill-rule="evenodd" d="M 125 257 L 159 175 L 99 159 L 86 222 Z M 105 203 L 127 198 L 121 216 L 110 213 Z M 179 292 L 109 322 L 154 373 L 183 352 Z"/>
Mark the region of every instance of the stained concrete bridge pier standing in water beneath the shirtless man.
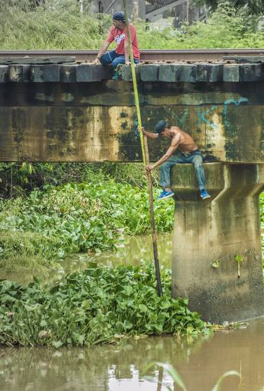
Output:
<path fill-rule="evenodd" d="M 200 199 L 191 164 L 172 169 L 172 295 L 212 323 L 264 315 L 258 196 L 264 165 L 205 163 L 212 199 Z M 240 277 L 239 277 L 240 268 Z"/>

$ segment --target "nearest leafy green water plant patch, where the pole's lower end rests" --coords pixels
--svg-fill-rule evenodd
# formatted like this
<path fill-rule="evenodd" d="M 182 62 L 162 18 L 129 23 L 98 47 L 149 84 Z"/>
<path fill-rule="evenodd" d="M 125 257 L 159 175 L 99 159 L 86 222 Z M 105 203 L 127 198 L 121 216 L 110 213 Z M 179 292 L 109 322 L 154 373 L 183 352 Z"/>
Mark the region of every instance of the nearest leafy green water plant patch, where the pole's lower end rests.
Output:
<path fill-rule="evenodd" d="M 172 299 L 171 274 L 161 270 L 158 297 L 152 263 L 98 266 L 89 263 L 63 283 L 27 287 L 0 282 L 0 343 L 4 345 L 93 345 L 123 335 L 208 333 L 186 299 Z"/>

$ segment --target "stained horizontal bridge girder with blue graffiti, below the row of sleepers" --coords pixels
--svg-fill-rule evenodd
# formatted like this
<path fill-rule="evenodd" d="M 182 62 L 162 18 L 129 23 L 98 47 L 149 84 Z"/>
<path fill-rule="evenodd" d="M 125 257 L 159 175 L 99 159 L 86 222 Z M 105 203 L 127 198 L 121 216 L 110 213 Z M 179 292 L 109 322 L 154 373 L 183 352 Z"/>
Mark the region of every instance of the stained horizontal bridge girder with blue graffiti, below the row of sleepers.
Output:
<path fill-rule="evenodd" d="M 28 68 L 10 69 L 14 82 L 0 85 L 1 161 L 141 161 L 131 82 L 22 83 Z M 74 72 L 68 65 L 63 77 L 70 80 Z M 57 76 L 53 68 L 35 74 Z M 139 84 L 143 124 L 153 130 L 166 118 L 179 125 L 206 161 L 263 163 L 263 87 L 261 82 L 144 82 Z M 151 160 L 167 147 L 165 140 L 149 142 Z"/>

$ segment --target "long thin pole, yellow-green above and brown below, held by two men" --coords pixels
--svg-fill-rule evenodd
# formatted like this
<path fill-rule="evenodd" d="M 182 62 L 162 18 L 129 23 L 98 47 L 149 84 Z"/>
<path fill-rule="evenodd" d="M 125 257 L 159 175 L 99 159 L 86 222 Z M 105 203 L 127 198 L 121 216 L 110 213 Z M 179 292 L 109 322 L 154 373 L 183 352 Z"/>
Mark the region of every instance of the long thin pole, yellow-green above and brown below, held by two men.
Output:
<path fill-rule="evenodd" d="M 143 135 L 142 132 L 142 116 L 141 116 L 140 106 L 139 106 L 139 92 L 137 90 L 136 71 L 134 69 L 134 56 L 133 56 L 132 40 L 130 34 L 130 23 L 128 20 L 128 13 L 127 13 L 127 0 L 123 0 L 123 3 L 125 9 L 125 24 L 127 30 L 127 38 L 128 38 L 129 49 L 130 49 L 130 64 L 131 64 L 132 82 L 134 88 L 134 101 L 137 109 L 137 120 L 139 123 L 139 128 L 141 130 L 139 132 L 139 135 L 140 135 L 140 144 L 142 147 L 142 158 L 143 158 L 144 167 L 146 168 L 146 164 L 149 164 L 149 149 L 148 149 L 147 138 L 146 136 Z M 154 208 L 153 208 L 153 187 L 152 187 L 151 171 L 146 171 L 146 178 L 148 180 L 148 185 L 149 185 L 149 212 L 151 216 L 151 236 L 152 236 L 152 244 L 153 244 L 153 256 L 154 256 L 154 263 L 155 263 L 158 296 L 161 296 L 162 295 L 161 271 L 160 271 L 160 265 L 158 261 L 157 234 L 155 228 L 155 218 L 154 218 Z"/>

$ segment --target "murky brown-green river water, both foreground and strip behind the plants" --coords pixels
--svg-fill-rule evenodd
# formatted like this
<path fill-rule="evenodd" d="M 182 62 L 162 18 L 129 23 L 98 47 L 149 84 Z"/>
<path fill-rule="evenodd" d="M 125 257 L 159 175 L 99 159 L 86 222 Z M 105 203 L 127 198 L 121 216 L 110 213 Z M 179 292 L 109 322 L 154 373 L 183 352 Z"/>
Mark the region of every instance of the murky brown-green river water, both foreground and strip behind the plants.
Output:
<path fill-rule="evenodd" d="M 158 237 L 162 263 L 170 263 L 171 236 Z M 139 263 L 152 258 L 151 238 L 133 237 L 115 254 L 99 254 L 98 262 Z M 63 275 L 85 268 L 91 256 L 71 257 L 52 271 L 46 280 L 54 283 Z M 10 278 L 11 276 L 8 276 Z M 27 276 L 16 276 L 26 283 Z M 196 339 L 175 336 L 124 339 L 118 345 L 84 348 L 8 348 L 0 349 L 1 391 L 162 391 L 173 385 L 168 373 L 153 368 L 152 361 L 172 364 L 180 373 L 188 391 L 211 391 L 226 371 L 235 370 L 240 378 L 225 378 L 222 391 L 264 390 L 264 319 L 249 322 L 246 328 L 215 332 Z"/>

